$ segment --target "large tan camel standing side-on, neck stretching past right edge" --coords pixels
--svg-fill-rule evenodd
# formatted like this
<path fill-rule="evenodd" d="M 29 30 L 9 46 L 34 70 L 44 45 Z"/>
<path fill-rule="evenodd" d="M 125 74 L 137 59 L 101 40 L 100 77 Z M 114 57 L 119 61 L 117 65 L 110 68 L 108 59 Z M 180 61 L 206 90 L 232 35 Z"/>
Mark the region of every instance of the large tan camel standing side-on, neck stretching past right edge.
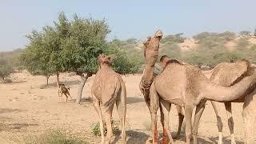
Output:
<path fill-rule="evenodd" d="M 152 39 L 151 39 L 152 40 Z M 150 42 L 151 42 L 150 40 Z M 150 44 L 149 42 L 149 44 Z M 153 51 L 153 50 L 152 50 Z M 155 55 L 158 49 L 154 50 Z M 154 58 L 152 58 L 154 59 Z M 150 86 L 150 114 L 152 120 L 153 142 L 157 141 L 156 134 L 156 112 L 158 104 L 161 103 L 164 114 L 164 127 L 166 128 L 170 142 L 174 142 L 169 130 L 169 111 L 170 103 L 179 106 L 185 106 L 186 115 L 186 142 L 190 142 L 191 137 L 191 117 L 194 106 L 197 106 L 194 122 L 194 143 L 197 143 L 197 128 L 202 109 L 206 100 L 218 102 L 228 102 L 246 94 L 247 90 L 254 87 L 256 82 L 256 73 L 238 82 L 234 86 L 223 87 L 210 82 L 201 70 L 195 66 L 181 64 L 177 62 L 168 63 L 166 69 L 154 79 Z M 222 95 L 220 95 L 222 94 Z M 159 95 L 159 98 L 158 98 Z"/>

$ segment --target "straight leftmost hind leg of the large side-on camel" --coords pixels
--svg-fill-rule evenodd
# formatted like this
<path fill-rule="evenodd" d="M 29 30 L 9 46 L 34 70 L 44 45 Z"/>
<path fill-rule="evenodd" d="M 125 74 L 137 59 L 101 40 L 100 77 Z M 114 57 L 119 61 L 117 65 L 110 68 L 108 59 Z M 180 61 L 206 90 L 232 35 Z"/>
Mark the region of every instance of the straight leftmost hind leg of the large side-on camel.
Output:
<path fill-rule="evenodd" d="M 157 129 L 157 112 L 159 106 L 158 94 L 155 90 L 154 83 L 150 86 L 150 114 L 151 114 L 151 125 L 152 133 L 151 137 L 153 138 L 153 143 L 158 143 L 158 129 Z"/>

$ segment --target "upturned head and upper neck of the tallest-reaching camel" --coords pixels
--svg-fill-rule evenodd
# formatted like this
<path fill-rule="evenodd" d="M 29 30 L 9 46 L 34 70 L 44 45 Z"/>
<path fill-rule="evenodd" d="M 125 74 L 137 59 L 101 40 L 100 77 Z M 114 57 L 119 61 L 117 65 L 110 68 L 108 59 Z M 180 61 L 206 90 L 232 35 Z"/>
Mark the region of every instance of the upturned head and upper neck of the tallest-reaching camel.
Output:
<path fill-rule="evenodd" d="M 152 66 L 158 59 L 159 43 L 161 39 L 162 30 L 157 30 L 153 38 L 148 37 L 147 40 L 143 42 L 145 46 L 144 57 L 146 58 L 146 62 L 150 63 Z"/>

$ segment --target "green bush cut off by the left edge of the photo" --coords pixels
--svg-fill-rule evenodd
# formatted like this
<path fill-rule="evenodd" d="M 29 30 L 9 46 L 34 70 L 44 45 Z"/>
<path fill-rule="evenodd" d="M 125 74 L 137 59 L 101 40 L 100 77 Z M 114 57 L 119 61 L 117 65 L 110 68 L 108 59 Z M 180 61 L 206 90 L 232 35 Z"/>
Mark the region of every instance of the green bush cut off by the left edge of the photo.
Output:
<path fill-rule="evenodd" d="M 4 81 L 5 78 L 10 76 L 12 72 L 13 72 L 13 67 L 10 66 L 10 64 L 6 60 L 1 58 L 0 59 L 0 78 L 2 78 L 2 80 Z"/>

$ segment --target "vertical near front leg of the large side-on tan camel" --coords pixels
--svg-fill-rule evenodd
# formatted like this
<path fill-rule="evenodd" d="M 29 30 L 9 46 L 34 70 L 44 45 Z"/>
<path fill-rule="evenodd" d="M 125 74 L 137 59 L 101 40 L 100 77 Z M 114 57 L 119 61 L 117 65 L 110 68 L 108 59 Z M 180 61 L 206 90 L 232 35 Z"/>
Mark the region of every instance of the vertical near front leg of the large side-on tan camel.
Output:
<path fill-rule="evenodd" d="M 190 144 L 191 138 L 191 118 L 192 118 L 193 107 L 185 106 L 185 118 L 186 118 L 186 143 Z"/>

